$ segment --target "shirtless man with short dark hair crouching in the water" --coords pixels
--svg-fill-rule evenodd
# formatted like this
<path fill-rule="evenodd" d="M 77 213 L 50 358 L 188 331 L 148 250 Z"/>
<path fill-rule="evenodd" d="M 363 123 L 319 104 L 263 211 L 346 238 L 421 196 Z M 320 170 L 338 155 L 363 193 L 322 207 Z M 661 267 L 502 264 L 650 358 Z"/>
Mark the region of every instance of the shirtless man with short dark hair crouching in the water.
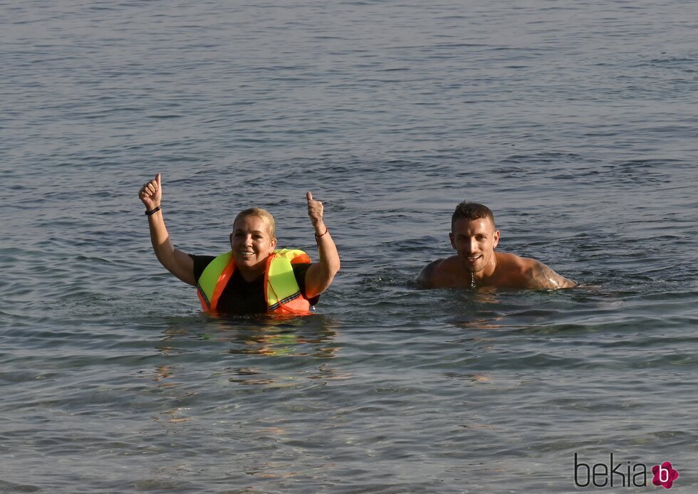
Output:
<path fill-rule="evenodd" d="M 577 283 L 535 259 L 495 252 L 499 230 L 488 207 L 462 202 L 451 219 L 455 256 L 427 264 L 417 276 L 421 288 L 573 288 Z"/>

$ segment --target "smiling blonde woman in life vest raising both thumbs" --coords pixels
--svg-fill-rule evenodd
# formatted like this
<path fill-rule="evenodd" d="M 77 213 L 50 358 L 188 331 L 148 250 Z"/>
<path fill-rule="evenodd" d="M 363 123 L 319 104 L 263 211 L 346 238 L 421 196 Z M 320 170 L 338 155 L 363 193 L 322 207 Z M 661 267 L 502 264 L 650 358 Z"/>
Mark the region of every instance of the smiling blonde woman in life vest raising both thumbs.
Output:
<path fill-rule="evenodd" d="M 197 287 L 202 308 L 231 314 L 310 313 L 339 270 L 332 237 L 323 222 L 323 204 L 308 192 L 308 216 L 315 228 L 320 261 L 303 251 L 276 250 L 274 217 L 264 209 L 241 211 L 230 234 L 231 251 L 220 256 L 192 256 L 172 246 L 162 219 L 160 174 L 138 194 L 145 205 L 150 241 L 162 266 Z"/>

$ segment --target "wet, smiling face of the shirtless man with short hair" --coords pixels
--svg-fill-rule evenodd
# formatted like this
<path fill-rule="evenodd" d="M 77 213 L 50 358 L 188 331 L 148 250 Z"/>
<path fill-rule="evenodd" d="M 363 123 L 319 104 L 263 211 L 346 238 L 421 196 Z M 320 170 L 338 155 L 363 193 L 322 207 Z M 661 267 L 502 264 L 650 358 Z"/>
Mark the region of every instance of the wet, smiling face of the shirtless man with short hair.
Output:
<path fill-rule="evenodd" d="M 460 260 L 472 273 L 483 270 L 492 261 L 494 248 L 499 243 L 499 230 L 489 218 L 454 221 L 449 233 L 451 245 Z"/>

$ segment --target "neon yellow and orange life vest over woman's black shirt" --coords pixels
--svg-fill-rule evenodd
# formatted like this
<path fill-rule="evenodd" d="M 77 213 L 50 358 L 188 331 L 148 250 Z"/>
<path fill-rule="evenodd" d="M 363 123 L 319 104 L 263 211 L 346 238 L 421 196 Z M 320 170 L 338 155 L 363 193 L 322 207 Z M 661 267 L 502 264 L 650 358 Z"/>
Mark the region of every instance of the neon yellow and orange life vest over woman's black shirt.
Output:
<path fill-rule="evenodd" d="M 283 248 L 266 260 L 264 287 L 267 312 L 276 314 L 310 314 L 310 303 L 301 295 L 293 274 L 293 264 L 311 263 L 303 251 Z M 218 300 L 235 270 L 232 252 L 217 256 L 197 280 L 197 293 L 203 310 L 215 311 Z"/>

